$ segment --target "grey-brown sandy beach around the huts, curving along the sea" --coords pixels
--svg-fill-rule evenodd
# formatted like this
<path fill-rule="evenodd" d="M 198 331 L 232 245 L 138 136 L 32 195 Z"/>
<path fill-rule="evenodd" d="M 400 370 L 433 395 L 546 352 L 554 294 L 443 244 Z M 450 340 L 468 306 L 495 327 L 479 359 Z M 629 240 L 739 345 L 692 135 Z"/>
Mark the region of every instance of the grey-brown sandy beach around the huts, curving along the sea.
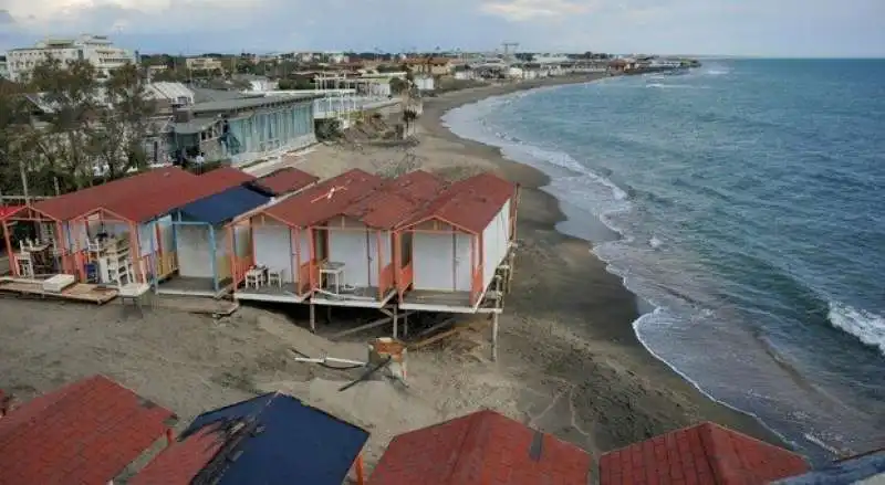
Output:
<path fill-rule="evenodd" d="M 413 146 L 320 145 L 287 159 L 321 177 L 352 167 L 387 171 L 408 165 L 457 178 L 477 170 L 522 186 L 513 292 L 501 318 L 499 359 L 488 359 L 488 327 L 409 354 L 408 388 L 383 380 L 339 388 L 356 371 L 296 362 L 291 349 L 365 359 L 365 342 L 387 327 L 332 342 L 324 338 L 377 315 L 345 310 L 317 335 L 304 307 L 243 307 L 220 319 L 118 304 L 79 306 L 0 299 L 0 388 L 20 399 L 96 372 L 117 379 L 179 414 L 282 390 L 372 432 L 369 467 L 393 435 L 480 408 L 492 408 L 600 453 L 698 421 L 777 437 L 754 419 L 704 397 L 637 340 L 636 297 L 607 273 L 590 243 L 554 230 L 556 200 L 539 190 L 538 170 L 498 149 L 462 140 L 440 123 L 448 109 L 487 96 L 586 78 L 452 92 L 425 101 Z M 278 167 L 274 167 L 278 168 Z M 322 312 L 324 313 L 324 312 Z M 469 321 L 469 320 L 467 320 Z"/>

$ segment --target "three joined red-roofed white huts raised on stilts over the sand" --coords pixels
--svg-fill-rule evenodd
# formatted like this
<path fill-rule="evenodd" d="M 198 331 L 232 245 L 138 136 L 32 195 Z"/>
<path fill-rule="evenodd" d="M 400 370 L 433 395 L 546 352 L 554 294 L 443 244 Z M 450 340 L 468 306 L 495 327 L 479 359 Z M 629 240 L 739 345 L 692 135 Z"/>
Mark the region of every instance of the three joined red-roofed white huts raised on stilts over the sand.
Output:
<path fill-rule="evenodd" d="M 316 305 L 378 309 L 395 338 L 400 309 L 491 314 L 497 341 L 517 197 L 490 173 L 448 184 L 423 170 L 350 170 L 232 221 L 253 240 L 249 259 L 231 261 L 233 296 L 308 303 L 312 330 Z"/>

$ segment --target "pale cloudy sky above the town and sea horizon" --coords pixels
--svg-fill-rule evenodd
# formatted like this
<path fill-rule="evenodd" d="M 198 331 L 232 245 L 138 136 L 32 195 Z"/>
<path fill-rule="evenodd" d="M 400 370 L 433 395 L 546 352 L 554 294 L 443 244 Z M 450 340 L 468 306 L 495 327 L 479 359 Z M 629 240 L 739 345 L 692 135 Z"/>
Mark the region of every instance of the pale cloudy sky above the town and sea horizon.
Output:
<path fill-rule="evenodd" d="M 0 51 L 111 35 L 142 53 L 885 56 L 885 0 L 0 0 Z"/>

